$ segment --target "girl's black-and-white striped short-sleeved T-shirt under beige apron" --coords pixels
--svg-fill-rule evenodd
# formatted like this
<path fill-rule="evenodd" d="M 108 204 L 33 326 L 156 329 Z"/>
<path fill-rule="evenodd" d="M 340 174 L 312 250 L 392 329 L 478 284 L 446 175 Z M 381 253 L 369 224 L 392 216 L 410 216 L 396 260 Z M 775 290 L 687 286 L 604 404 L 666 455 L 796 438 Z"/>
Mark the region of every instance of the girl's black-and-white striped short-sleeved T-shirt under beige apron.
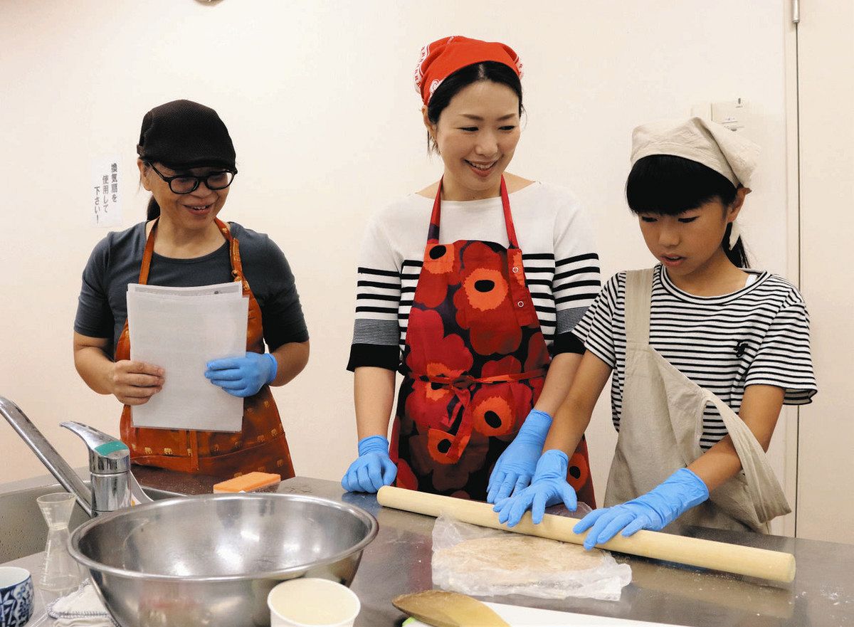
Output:
<path fill-rule="evenodd" d="M 739 413 L 748 385 L 786 390 L 784 403 L 804 405 L 816 394 L 810 358 L 810 317 L 786 279 L 747 270 L 756 280 L 724 296 L 692 296 L 658 265 L 653 272 L 649 342 L 695 384 Z M 611 366 L 611 414 L 620 430 L 625 383 L 626 273 L 615 274 L 576 325 L 585 347 Z M 705 408 L 700 448 L 727 435 L 720 413 Z"/>

